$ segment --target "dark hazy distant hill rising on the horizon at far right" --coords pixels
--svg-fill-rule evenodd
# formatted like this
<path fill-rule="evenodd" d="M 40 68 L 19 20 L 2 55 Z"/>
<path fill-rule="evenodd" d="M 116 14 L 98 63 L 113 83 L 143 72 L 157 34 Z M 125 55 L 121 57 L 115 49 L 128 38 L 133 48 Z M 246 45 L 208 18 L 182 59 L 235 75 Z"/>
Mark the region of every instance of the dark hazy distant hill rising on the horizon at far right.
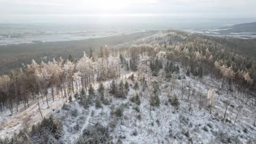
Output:
<path fill-rule="evenodd" d="M 230 27 L 223 27 L 219 33 L 221 34 L 230 34 L 230 33 L 240 33 L 240 32 L 256 32 L 256 22 L 245 23 L 245 24 L 236 24 Z"/>

